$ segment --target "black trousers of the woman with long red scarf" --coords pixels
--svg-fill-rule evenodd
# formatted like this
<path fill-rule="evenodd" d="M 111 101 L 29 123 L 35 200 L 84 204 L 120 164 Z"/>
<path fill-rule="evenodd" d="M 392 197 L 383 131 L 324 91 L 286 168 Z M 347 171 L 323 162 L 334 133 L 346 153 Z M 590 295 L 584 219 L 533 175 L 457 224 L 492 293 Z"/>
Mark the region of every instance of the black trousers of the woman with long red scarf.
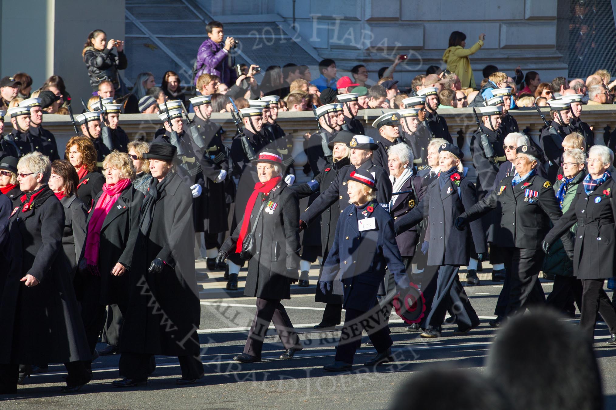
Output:
<path fill-rule="evenodd" d="M 292 347 L 301 349 L 302 345 L 299 342 L 298 333 L 293 328 L 293 323 L 291 323 L 285 307 L 280 303 L 280 299 L 257 298 L 257 312 L 254 313 L 253 324 L 250 326 L 244 353 L 261 357 L 263 341 L 270 323 L 274 323 L 276 333 L 278 333 L 285 350 Z"/>

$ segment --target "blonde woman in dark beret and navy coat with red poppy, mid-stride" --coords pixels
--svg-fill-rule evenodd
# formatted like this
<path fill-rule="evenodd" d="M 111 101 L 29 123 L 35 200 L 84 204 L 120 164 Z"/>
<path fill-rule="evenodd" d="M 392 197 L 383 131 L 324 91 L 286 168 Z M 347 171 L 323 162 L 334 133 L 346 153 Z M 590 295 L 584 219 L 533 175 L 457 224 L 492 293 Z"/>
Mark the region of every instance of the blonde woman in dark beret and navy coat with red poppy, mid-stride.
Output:
<path fill-rule="evenodd" d="M 458 329 L 454 334 L 467 333 L 480 323 L 458 278 L 460 266 L 468 265 L 473 244 L 480 259 L 487 252 L 481 221 L 475 221 L 460 230 L 453 226 L 453 221 L 477 202 L 474 184 L 461 175 L 462 156 L 460 148 L 453 144 L 440 146 L 439 178 L 428 187 L 428 197 L 421 202 L 421 207 L 415 208 L 396 223 L 396 231 L 399 232 L 418 224 L 423 216 L 428 216 L 422 250 L 428 249 L 428 265 L 439 266 L 439 272 L 434 302 L 426 318 L 422 337 L 440 337 L 441 324 L 445 320 L 448 306 L 458 307 L 455 312 Z"/>

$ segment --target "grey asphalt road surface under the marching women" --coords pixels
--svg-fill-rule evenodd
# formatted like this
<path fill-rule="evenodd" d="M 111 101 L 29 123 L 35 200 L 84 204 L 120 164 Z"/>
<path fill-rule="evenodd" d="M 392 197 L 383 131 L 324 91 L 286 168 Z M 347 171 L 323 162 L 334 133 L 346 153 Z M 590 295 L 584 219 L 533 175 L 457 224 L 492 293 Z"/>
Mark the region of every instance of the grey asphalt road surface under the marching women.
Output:
<path fill-rule="evenodd" d="M 201 343 L 205 377 L 198 384 L 180 387 L 179 364 L 174 357 L 156 357 L 156 371 L 144 387 L 119 389 L 111 382 L 118 375 L 119 355 L 95 360 L 94 379 L 80 392 L 60 393 L 65 374 L 63 365 L 50 365 L 49 372 L 26 379 L 16 395 L 0 396 L 0 409 L 384 409 L 397 388 L 413 372 L 435 363 L 485 371 L 484 361 L 498 330 L 488 321 L 502 288 L 502 283 L 484 278 L 479 286 L 467 286 L 471 303 L 482 320 L 479 328 L 463 336 L 452 336 L 455 325 L 444 326 L 439 339 L 423 339 L 418 332 L 405 330 L 397 315 L 390 327 L 397 362 L 377 370 L 362 366 L 375 354 L 366 344 L 355 355 L 355 366 L 346 373 L 326 373 L 322 366 L 333 361 L 340 336 L 337 330 L 322 332 L 312 328 L 320 322 L 323 304 L 314 302 L 318 277 L 317 266 L 310 271 L 310 287 L 292 286 L 290 301 L 283 301 L 291 321 L 298 330 L 305 349 L 291 360 L 279 360 L 282 344 L 273 327 L 263 347 L 261 363 L 241 364 L 233 355 L 241 353 L 247 330 L 254 316 L 254 298 L 245 298 L 242 291 L 226 291 L 222 272 L 209 272 L 205 263 L 198 263 L 198 279 L 203 285 L 201 296 Z M 462 271 L 464 272 L 464 271 Z M 488 270 L 489 272 L 489 270 Z M 240 286 L 246 271 L 240 272 Z M 541 280 L 549 293 L 552 282 Z M 609 291 L 611 297 L 611 291 Z M 570 320 L 572 325 L 577 318 Z M 1 336 L 0 336 L 1 337 Z M 606 347 L 609 337 L 604 323 L 596 331 L 596 354 L 604 380 L 606 409 L 616 408 L 616 347 Z M 98 349 L 105 345 L 99 344 Z"/>

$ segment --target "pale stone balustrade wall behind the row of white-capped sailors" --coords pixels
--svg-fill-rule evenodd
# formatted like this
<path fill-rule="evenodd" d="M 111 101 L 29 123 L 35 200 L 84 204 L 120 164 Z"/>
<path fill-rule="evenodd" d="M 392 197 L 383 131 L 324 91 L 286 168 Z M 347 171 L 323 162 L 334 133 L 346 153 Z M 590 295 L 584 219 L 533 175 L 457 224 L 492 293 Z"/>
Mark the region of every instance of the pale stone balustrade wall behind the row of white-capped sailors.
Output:
<path fill-rule="evenodd" d="M 367 135 L 376 135 L 375 128 L 372 128 L 372 122 L 381 116 L 383 112 L 393 110 L 383 109 L 365 109 L 360 111 L 358 119 L 363 122 Z M 549 109 L 542 109 L 549 120 Z M 543 122 L 539 114 L 534 108 L 522 108 L 509 111 L 517 120 L 520 131 L 527 133 L 533 140 L 539 141 L 539 133 Z M 449 132 L 455 144 L 460 146 L 464 152 L 464 165 L 469 167 L 469 176 L 474 176 L 474 168 L 472 167 L 471 153 L 469 151 L 469 143 L 472 133 L 477 129 L 475 117 L 472 114 L 471 108 L 462 109 L 440 109 L 439 114 L 447 121 Z M 191 117 L 193 114 L 190 114 Z M 224 142 L 231 144 L 233 135 L 236 133 L 235 125 L 233 125 L 231 115 L 228 113 L 214 113 L 212 120 L 220 124 L 225 130 Z M 609 133 L 616 129 L 616 106 L 614 104 L 601 106 L 584 106 L 582 109 L 582 120 L 593 127 L 594 143 L 605 144 Z M 304 154 L 304 134 L 307 132 L 314 133 L 317 130 L 317 124 L 314 120 L 314 114 L 310 111 L 301 112 L 280 112 L 278 114 L 278 124 L 285 130 L 287 134 L 293 134 L 294 149 L 293 156 L 296 161 L 296 170 L 306 164 L 306 155 Z M 43 117 L 43 127 L 54 133 L 58 143 L 60 152 L 64 151 L 64 147 L 68 138 L 75 135 L 73 126 L 71 125 L 68 116 L 57 114 L 45 114 Z M 156 114 L 122 114 L 120 116 L 120 127 L 128 134 L 129 139 L 143 138 L 146 141 L 151 141 L 156 130 L 162 127 L 161 121 Z M 5 133 L 10 130 L 12 125 L 10 122 L 5 123 Z M 606 133 L 607 132 L 607 133 Z M 307 176 L 299 175 L 299 178 L 304 179 Z"/>

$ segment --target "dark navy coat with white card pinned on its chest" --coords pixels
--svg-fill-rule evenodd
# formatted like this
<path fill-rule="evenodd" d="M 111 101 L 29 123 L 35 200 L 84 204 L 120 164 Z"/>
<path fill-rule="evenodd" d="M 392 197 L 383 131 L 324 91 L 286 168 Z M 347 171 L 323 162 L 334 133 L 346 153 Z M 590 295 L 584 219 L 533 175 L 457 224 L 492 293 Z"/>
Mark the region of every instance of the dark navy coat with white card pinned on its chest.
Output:
<path fill-rule="evenodd" d="M 364 218 L 375 218 L 375 229 L 359 231 L 359 219 Z M 397 284 L 408 286 L 395 243 L 394 220 L 376 202 L 359 208 L 347 206 L 338 219 L 336 238 L 323 266 L 321 280 L 333 281 L 338 271 L 342 272 L 339 278 L 344 286 L 344 308 L 367 312 L 376 304 L 386 268 L 394 274 Z"/>

